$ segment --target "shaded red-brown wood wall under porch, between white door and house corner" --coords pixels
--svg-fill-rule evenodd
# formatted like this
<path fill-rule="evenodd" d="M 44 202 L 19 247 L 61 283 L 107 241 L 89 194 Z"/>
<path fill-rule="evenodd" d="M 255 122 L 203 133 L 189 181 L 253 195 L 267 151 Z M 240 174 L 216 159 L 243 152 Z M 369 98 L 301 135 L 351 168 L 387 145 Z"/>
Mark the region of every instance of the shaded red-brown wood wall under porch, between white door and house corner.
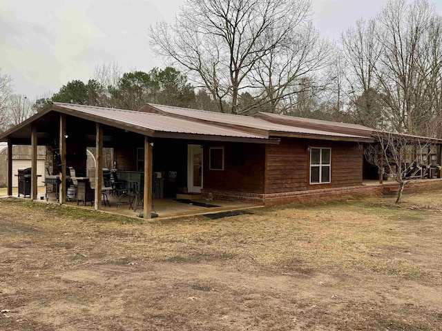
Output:
<path fill-rule="evenodd" d="M 224 147 L 224 170 L 209 169 L 210 147 Z M 246 143 L 204 145 L 203 188 L 236 192 L 264 192 L 265 146 Z"/>

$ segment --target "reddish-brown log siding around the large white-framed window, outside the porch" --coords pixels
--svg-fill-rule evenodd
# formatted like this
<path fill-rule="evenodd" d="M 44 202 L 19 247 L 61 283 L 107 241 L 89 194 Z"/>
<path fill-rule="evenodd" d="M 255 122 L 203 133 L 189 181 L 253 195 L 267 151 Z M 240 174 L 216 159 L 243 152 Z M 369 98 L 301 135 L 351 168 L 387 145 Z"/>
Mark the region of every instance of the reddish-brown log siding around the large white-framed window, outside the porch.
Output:
<path fill-rule="evenodd" d="M 308 147 L 331 148 L 331 183 L 310 184 Z M 281 139 L 267 148 L 266 193 L 341 188 L 362 185 L 363 151 L 358 143 Z"/>

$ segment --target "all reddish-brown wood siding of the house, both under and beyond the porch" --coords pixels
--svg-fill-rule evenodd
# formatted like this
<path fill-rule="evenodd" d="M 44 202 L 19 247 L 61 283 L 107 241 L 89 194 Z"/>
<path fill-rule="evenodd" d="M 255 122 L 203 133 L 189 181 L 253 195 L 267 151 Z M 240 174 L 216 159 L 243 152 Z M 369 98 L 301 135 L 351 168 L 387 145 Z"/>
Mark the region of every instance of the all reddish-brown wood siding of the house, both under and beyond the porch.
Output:
<path fill-rule="evenodd" d="M 134 139 L 136 140 L 136 139 Z M 135 142 L 135 141 L 134 141 Z M 187 185 L 187 146 L 198 141 L 158 139 L 153 146 L 153 171 L 164 172 L 165 196 L 182 192 Z M 200 142 L 201 143 L 201 142 Z M 136 170 L 137 143 L 115 146 L 117 167 Z M 252 143 L 203 142 L 202 187 L 207 192 L 229 191 L 251 194 L 273 194 L 321 188 L 362 185 L 363 152 L 358 143 L 281 139 L 279 145 Z M 211 147 L 224 148 L 224 170 L 209 169 Z M 331 183 L 310 184 L 310 153 L 307 147 L 331 148 Z M 167 174 L 177 172 L 169 188 Z M 166 190 L 167 186 L 167 190 Z M 173 186 L 173 187 L 172 187 Z"/>

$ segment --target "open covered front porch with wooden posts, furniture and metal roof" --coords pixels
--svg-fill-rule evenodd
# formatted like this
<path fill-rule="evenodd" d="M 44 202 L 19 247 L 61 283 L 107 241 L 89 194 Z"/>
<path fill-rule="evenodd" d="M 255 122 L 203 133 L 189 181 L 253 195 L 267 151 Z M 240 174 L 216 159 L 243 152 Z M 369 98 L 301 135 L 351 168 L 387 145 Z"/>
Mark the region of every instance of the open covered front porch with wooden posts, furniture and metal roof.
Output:
<path fill-rule="evenodd" d="M 106 114 L 108 111 L 108 114 Z M 117 113 L 117 117 L 115 117 Z M 143 119 L 145 117 L 146 119 Z M 226 185 L 228 179 L 220 177 L 224 170 L 224 147 L 229 150 L 242 144 L 257 146 L 264 151 L 265 137 L 248 132 L 238 132 L 225 128 L 198 125 L 183 119 L 161 118 L 158 114 L 146 114 L 95 108 L 88 106 L 52 105 L 21 125 L 2 135 L 8 142 L 8 153 L 14 145 L 30 145 L 32 165 L 30 169 L 30 199 L 60 204 L 78 205 L 131 217 L 173 217 L 184 214 L 206 214 L 223 210 L 251 208 L 256 203 L 211 201 L 202 199 L 200 192 L 204 183 L 220 181 Z M 219 131 L 219 132 L 218 132 Z M 37 189 L 37 146 L 48 146 L 46 188 L 55 187 L 57 192 L 48 190 L 41 193 Z M 233 147 L 232 147 L 233 146 Z M 237 146 L 237 147 L 235 147 Z M 86 148 L 95 148 L 95 167 L 86 167 Z M 113 168 L 118 181 L 128 183 L 129 203 L 121 203 L 121 194 L 109 191 L 109 183 L 104 180 L 104 148 L 113 149 Z M 261 153 L 260 153 L 261 154 Z M 212 157 L 209 157 L 212 155 Z M 263 155 L 263 153 L 262 153 Z M 12 192 L 12 157 L 8 154 L 7 194 Z M 256 172 L 244 176 L 263 177 L 264 159 L 256 160 Z M 238 163 L 238 162 L 237 162 Z M 244 163 L 244 161 L 242 161 Z M 246 162 L 247 163 L 247 162 Z M 242 164 L 249 169 L 249 164 Z M 213 167 L 216 176 L 208 174 Z M 219 173 L 217 173 L 219 172 Z M 253 175 L 254 174 L 254 175 Z M 133 178 L 135 177 L 135 178 Z M 161 185 L 155 185 L 160 177 Z M 205 177 L 205 178 L 204 178 Z M 48 179 L 56 185 L 49 185 Z M 238 179 L 238 183 L 244 179 Z M 68 188 L 78 181 L 77 196 L 69 199 Z M 86 181 L 92 188 L 93 197 L 86 199 L 84 191 L 79 199 L 79 183 Z M 247 179 L 246 179 L 247 181 Z M 227 186 L 228 188 L 228 186 Z M 83 188 L 84 189 L 84 188 Z M 260 190 L 261 188 L 257 188 Z M 197 194 L 180 197 L 179 194 Z M 137 199 L 135 206 L 135 196 Z M 186 202 L 185 200 L 191 200 Z M 70 201 L 73 200 L 73 201 Z M 104 202 L 108 200 L 109 203 Z M 178 201 L 177 201 L 178 200 Z M 180 201 L 184 200 L 184 201 Z M 110 206 L 109 206 L 110 205 Z"/>

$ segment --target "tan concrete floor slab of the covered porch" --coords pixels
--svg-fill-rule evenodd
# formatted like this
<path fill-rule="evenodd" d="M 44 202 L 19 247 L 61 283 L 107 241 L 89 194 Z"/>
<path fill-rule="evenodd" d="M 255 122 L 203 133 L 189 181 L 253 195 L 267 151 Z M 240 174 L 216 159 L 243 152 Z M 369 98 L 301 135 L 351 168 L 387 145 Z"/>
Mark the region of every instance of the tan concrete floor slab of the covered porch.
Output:
<path fill-rule="evenodd" d="M 15 191 L 15 192 L 14 192 Z M 17 190 L 13 190 L 12 195 L 17 197 Z M 24 199 L 24 198 L 23 198 Z M 29 198 L 26 198 L 29 199 Z M 137 208 L 136 211 L 133 208 L 129 208 L 128 204 L 119 205 L 117 208 L 118 197 L 108 196 L 109 202 L 111 203 L 111 207 L 108 205 L 104 205 L 102 203 L 102 211 L 109 212 L 111 214 L 120 214 L 128 217 L 139 217 L 140 212 L 142 212 L 142 208 Z M 37 194 L 37 201 L 41 201 L 46 203 L 45 191 L 44 188 L 39 188 Z M 127 201 L 127 199 L 124 199 Z M 222 201 L 222 200 L 212 200 L 206 201 L 204 199 L 195 199 L 192 200 L 197 203 L 207 204 L 207 205 L 216 205 L 216 207 L 204 207 L 201 205 L 193 205 L 191 203 L 182 203 L 176 201 L 175 199 L 153 199 L 152 201 L 152 212 L 158 214 L 158 218 L 164 219 L 169 217 L 180 217 L 180 216 L 191 216 L 198 214 L 211 214 L 215 212 L 227 211 L 227 210 L 241 210 L 248 208 L 256 208 L 261 205 L 256 203 L 244 203 L 239 201 Z M 48 194 L 48 203 L 57 203 L 55 199 L 55 193 Z M 94 206 L 90 205 L 90 202 L 86 203 L 86 206 L 80 201 L 79 205 L 77 205 L 77 201 L 66 201 L 66 205 L 77 207 L 77 208 L 86 208 L 88 210 L 93 210 Z"/>

